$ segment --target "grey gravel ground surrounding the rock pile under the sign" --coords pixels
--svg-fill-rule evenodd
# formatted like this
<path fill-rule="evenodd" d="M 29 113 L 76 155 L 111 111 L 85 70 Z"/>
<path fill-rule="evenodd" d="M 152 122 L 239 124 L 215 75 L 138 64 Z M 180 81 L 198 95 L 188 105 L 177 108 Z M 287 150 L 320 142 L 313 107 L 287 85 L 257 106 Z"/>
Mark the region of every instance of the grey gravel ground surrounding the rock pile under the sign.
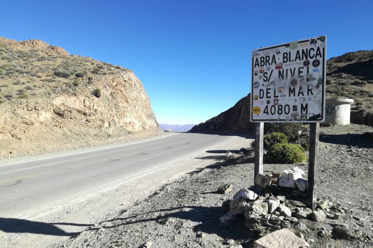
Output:
<path fill-rule="evenodd" d="M 367 238 L 349 241 L 329 232 L 331 224 L 343 223 L 373 234 L 373 141 L 367 140 L 365 132 L 373 132 L 373 127 L 321 127 L 318 198 L 339 205 L 345 214 L 324 222 L 300 219 L 309 230 L 305 239 L 314 240 L 309 242 L 311 248 L 373 247 Z M 160 187 L 145 200 L 123 209 L 118 217 L 97 223 L 59 246 L 252 247 L 257 237 L 245 229 L 243 218 L 229 225 L 221 224 L 219 218 L 224 214 L 222 202 L 232 199 L 240 188 L 253 185 L 254 158 L 241 155 L 227 163 L 222 161 L 225 155 L 226 151 L 215 151 L 216 163 Z M 265 163 L 264 174 L 293 166 Z M 306 163 L 297 166 L 307 172 Z M 216 193 L 222 183 L 232 184 L 234 189 L 224 195 Z M 328 233 L 324 237 L 317 234 L 322 227 Z"/>

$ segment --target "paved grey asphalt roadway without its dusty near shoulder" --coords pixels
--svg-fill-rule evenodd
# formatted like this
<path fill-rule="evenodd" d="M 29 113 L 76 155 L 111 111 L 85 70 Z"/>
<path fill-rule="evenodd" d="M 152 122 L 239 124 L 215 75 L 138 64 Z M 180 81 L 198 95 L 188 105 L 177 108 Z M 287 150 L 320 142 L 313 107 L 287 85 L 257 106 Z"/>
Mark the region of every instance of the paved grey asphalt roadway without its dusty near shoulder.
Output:
<path fill-rule="evenodd" d="M 51 204 L 74 202 L 103 188 L 230 139 L 178 133 L 115 148 L 0 166 L 0 217 L 23 218 Z"/>

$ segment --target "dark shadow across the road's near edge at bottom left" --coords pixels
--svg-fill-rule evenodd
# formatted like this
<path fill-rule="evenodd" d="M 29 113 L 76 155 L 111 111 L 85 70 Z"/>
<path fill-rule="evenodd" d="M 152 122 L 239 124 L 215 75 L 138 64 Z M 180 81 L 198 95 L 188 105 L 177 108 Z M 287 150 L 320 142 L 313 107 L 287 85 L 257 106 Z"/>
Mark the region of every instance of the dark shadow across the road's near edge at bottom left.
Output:
<path fill-rule="evenodd" d="M 39 221 L 31 221 L 27 219 L 16 219 L 16 218 L 2 218 L 0 217 L 0 231 L 5 233 L 34 233 L 54 236 L 75 236 L 79 233 L 67 233 L 64 230 L 54 225 L 68 225 L 68 226 L 80 226 L 89 227 L 90 224 L 77 224 L 77 223 L 44 223 Z"/>

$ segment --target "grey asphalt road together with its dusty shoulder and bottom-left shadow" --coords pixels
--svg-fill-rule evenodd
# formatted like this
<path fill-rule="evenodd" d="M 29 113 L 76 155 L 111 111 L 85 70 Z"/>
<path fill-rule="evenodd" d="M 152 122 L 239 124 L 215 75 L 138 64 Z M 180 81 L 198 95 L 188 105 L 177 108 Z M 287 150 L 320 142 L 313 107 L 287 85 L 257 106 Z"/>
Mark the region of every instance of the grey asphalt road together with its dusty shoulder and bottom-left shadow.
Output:
<path fill-rule="evenodd" d="M 164 183 L 250 146 L 238 136 L 165 133 L 75 154 L 0 165 L 0 248 L 58 247 Z"/>

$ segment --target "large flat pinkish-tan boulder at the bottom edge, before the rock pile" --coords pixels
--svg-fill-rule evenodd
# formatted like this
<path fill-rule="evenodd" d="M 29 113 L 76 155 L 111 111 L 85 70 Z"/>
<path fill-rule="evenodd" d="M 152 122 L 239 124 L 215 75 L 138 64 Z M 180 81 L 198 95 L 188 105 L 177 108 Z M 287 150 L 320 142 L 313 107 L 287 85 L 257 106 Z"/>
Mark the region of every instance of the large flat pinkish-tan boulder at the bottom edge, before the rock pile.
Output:
<path fill-rule="evenodd" d="M 289 229 L 267 234 L 254 242 L 254 248 L 306 248 L 309 244 L 304 239 L 297 237 Z"/>

